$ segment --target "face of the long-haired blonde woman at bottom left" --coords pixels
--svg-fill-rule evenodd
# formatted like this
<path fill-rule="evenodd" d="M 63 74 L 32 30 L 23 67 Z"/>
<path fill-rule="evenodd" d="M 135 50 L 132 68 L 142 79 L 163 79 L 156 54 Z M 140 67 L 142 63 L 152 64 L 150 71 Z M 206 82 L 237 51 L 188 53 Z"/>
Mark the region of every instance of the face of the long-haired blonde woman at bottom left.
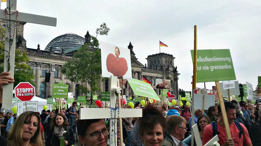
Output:
<path fill-rule="evenodd" d="M 28 116 L 22 126 L 22 138 L 24 141 L 30 140 L 37 130 L 38 119 L 36 116 Z"/>

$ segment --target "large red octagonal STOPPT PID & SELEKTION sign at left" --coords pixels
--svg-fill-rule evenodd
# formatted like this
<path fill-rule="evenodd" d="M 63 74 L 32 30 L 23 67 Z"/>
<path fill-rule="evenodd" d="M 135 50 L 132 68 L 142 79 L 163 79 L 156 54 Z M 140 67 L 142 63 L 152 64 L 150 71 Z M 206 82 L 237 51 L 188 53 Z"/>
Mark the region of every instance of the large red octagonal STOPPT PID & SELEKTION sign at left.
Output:
<path fill-rule="evenodd" d="M 14 88 L 14 96 L 20 101 L 30 101 L 35 96 L 35 87 L 29 82 L 21 82 Z"/>

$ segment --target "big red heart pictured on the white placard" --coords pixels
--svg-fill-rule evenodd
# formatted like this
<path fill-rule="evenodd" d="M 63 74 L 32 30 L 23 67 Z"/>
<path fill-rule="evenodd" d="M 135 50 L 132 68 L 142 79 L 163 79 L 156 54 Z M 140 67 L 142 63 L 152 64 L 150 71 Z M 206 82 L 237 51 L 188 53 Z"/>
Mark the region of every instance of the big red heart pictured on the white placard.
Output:
<path fill-rule="evenodd" d="M 128 70 L 127 61 L 125 58 L 119 58 L 118 60 L 113 54 L 109 54 L 106 60 L 107 70 L 114 76 L 124 76 Z"/>

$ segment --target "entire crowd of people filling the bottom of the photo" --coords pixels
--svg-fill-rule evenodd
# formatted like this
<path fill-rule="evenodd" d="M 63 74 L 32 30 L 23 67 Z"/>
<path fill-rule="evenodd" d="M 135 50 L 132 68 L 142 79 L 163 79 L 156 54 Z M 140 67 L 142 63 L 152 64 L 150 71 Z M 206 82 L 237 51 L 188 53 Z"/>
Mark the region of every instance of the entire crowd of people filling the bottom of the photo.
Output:
<path fill-rule="evenodd" d="M 2 87 L 14 81 L 9 73 L 0 74 L 0 108 L 2 106 Z M 27 111 L 16 117 L 12 113 L 0 113 L 1 137 L 0 146 L 60 146 L 74 145 L 75 133 L 83 146 L 107 146 L 112 140 L 109 119 L 79 120 L 79 111 L 73 102 L 68 109 Z M 236 100 L 224 102 L 226 114 L 221 112 L 220 104 L 211 106 L 208 110 L 194 109 L 188 105 L 182 107 L 158 107 L 148 103 L 141 106 L 135 103 L 135 108 L 142 108 L 142 117 L 123 118 L 123 145 L 126 146 L 187 146 L 191 145 L 191 126 L 197 124 L 202 145 L 218 135 L 220 145 L 224 146 L 258 146 L 261 145 L 261 104 L 254 105 Z M 125 105 L 124 108 L 131 108 Z M 254 110 L 251 111 L 251 108 Z M 60 113 L 59 113 L 60 111 Z M 192 123 L 192 114 L 194 122 Z M 226 137 L 223 116 L 228 119 L 231 139 Z M 116 126 L 119 121 L 117 121 Z M 120 129 L 117 128 L 117 145 L 121 142 Z M 195 145 L 195 140 L 194 140 Z"/>

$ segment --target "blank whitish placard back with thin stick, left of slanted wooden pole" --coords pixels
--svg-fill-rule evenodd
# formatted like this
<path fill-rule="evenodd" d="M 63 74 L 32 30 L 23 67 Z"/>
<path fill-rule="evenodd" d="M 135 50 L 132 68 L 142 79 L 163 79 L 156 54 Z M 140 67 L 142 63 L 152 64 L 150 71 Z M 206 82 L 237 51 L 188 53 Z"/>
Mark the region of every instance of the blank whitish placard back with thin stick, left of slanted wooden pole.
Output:
<path fill-rule="evenodd" d="M 203 94 L 194 94 L 194 109 L 202 109 Z M 204 110 L 208 110 L 210 106 L 215 106 L 215 95 L 205 95 Z"/>

